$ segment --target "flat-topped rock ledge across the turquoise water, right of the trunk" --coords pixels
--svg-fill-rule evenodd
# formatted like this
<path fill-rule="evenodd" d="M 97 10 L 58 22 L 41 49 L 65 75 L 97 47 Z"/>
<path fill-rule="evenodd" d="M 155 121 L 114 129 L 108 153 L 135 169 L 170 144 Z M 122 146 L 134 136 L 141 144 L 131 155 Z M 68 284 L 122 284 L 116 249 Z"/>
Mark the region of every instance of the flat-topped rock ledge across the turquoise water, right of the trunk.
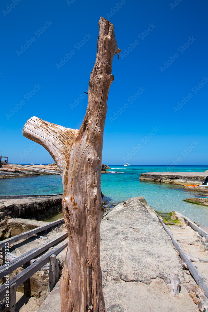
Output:
<path fill-rule="evenodd" d="M 145 172 L 140 173 L 140 181 L 173 184 L 201 184 L 207 177 L 206 172 Z"/>

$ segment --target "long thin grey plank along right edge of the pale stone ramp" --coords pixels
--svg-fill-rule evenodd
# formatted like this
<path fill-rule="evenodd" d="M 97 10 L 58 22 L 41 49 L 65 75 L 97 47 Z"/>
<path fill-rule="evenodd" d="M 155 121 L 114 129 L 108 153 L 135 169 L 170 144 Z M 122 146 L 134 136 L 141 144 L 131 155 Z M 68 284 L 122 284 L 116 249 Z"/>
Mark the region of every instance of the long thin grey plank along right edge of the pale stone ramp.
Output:
<path fill-rule="evenodd" d="M 154 211 L 154 210 L 153 210 Z M 155 212 L 155 211 L 154 211 Z M 196 283 L 199 285 L 201 289 L 204 290 L 204 294 L 206 297 L 208 297 L 208 286 L 205 282 L 205 280 L 200 276 L 200 273 L 198 270 L 195 268 L 195 266 L 192 264 L 190 259 L 185 255 L 184 251 L 182 250 L 181 246 L 177 243 L 176 239 L 173 237 L 172 233 L 168 230 L 162 219 L 157 215 L 155 212 L 156 216 L 158 217 L 160 223 L 162 224 L 163 228 L 167 232 L 167 234 L 171 237 L 173 245 L 176 247 L 177 251 L 179 252 L 181 259 L 187 263 L 189 272 L 195 279 Z"/>

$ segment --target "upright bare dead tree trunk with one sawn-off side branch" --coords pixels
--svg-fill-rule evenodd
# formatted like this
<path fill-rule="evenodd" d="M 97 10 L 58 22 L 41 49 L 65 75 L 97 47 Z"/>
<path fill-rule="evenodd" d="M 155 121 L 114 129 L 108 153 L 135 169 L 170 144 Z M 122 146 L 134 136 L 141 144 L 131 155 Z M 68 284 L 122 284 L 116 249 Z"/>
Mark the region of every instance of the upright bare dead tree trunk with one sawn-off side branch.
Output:
<path fill-rule="evenodd" d="M 105 310 L 100 268 L 101 157 L 112 61 L 120 53 L 114 25 L 99 20 L 97 55 L 89 80 L 88 106 L 79 130 L 37 117 L 23 134 L 41 144 L 57 163 L 64 187 L 63 215 L 69 236 L 61 277 L 62 312 Z"/>

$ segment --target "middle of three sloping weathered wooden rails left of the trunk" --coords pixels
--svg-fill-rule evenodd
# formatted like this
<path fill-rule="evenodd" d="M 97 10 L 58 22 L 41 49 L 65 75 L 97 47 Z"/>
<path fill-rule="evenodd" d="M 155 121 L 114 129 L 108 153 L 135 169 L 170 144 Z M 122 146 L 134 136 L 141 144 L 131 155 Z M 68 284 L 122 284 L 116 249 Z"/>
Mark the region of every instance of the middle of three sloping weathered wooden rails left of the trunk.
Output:
<path fill-rule="evenodd" d="M 45 243 L 41 244 L 40 246 L 37 246 L 33 248 L 30 251 L 27 251 L 23 255 L 19 256 L 18 258 L 12 260 L 9 262 L 9 271 L 12 272 L 16 270 L 18 267 L 24 265 L 27 261 L 30 261 L 31 259 L 35 258 L 36 256 L 40 255 L 42 252 L 46 251 L 51 246 L 54 246 L 59 241 L 65 239 L 67 237 L 67 233 L 57 235 L 54 238 L 51 238 L 50 240 L 46 241 Z M 7 270 L 6 270 L 7 271 Z M 4 277 L 5 275 L 5 265 L 0 267 L 0 279 Z"/>

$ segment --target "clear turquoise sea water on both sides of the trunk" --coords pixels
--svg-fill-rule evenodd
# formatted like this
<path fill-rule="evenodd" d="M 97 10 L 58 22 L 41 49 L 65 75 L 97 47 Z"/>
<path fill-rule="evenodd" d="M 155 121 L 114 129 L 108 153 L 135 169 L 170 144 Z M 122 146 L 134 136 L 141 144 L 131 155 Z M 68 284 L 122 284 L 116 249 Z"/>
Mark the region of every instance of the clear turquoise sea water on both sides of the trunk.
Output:
<path fill-rule="evenodd" d="M 208 226 L 208 207 L 184 202 L 186 197 L 206 197 L 186 191 L 180 185 L 139 182 L 139 174 L 169 171 L 167 166 L 109 165 L 111 173 L 102 174 L 102 192 L 109 203 L 119 203 L 129 197 L 143 196 L 157 211 L 176 210 L 202 226 Z M 208 166 L 175 166 L 172 171 L 204 172 Z M 30 178 L 0 179 L 0 195 L 36 195 L 63 193 L 60 176 L 43 175 Z"/>

